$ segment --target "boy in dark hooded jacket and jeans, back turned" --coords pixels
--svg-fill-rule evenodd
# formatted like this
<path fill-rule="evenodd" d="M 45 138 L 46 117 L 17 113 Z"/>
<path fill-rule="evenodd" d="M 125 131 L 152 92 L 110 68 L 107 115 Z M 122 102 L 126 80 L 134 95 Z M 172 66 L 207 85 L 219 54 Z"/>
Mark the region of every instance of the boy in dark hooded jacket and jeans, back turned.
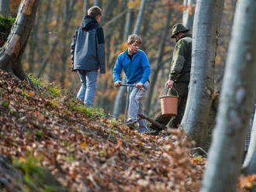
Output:
<path fill-rule="evenodd" d="M 77 98 L 90 108 L 95 97 L 98 70 L 100 74 L 106 74 L 104 33 L 99 26 L 101 19 L 102 10 L 98 6 L 88 9 L 71 44 L 72 70 L 78 71 L 81 80 Z"/>

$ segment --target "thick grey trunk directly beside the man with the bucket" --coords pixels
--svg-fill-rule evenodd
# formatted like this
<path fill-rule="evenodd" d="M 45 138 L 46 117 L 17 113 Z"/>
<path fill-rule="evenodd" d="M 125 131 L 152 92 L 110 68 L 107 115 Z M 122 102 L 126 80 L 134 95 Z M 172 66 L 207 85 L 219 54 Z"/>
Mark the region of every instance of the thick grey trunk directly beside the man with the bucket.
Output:
<path fill-rule="evenodd" d="M 189 96 L 182 118 L 182 129 L 206 149 L 208 115 L 213 102 L 214 67 L 218 26 L 223 0 L 198 0 L 192 38 L 192 68 Z"/>

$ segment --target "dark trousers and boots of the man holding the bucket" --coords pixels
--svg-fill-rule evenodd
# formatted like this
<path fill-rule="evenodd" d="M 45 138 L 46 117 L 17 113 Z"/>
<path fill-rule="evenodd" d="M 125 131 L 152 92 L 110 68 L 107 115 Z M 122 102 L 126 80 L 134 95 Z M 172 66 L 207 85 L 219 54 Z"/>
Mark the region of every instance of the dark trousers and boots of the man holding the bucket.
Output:
<path fill-rule="evenodd" d="M 188 98 L 188 86 L 189 83 L 175 83 L 174 88 L 178 92 L 178 112 L 176 116 L 172 117 L 166 117 L 163 115 L 157 115 L 157 118 L 155 118 L 156 122 L 161 123 L 162 125 L 168 125 L 170 128 L 178 128 L 178 125 L 182 122 L 182 118 L 185 112 L 185 105 Z M 173 91 L 169 91 L 169 95 L 174 94 Z M 155 125 L 150 125 L 150 129 L 154 129 L 156 131 L 161 131 L 160 128 L 158 128 Z"/>

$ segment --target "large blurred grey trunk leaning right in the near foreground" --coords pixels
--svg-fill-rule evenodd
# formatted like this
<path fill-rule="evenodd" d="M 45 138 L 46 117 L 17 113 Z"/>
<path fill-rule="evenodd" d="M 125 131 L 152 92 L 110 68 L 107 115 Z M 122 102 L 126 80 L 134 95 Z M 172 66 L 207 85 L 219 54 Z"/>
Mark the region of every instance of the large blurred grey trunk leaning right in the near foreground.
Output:
<path fill-rule="evenodd" d="M 237 2 L 213 143 L 201 192 L 236 191 L 255 101 L 256 2 Z M 220 180 L 221 178 L 221 180 Z"/>

